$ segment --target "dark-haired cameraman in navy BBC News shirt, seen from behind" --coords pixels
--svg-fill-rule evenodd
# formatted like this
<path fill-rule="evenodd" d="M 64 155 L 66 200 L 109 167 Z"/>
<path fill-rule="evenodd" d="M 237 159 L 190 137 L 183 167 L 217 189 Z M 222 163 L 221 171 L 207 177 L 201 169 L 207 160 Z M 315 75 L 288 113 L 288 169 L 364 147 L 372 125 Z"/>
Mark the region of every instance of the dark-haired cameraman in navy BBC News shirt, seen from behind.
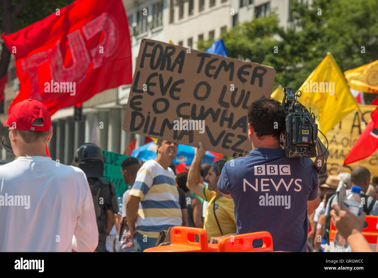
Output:
<path fill-rule="evenodd" d="M 280 146 L 285 110 L 274 99 L 255 100 L 248 108 L 252 150 L 228 161 L 218 181 L 233 199 L 237 234 L 268 231 L 275 250 L 306 252 L 308 217 L 320 204 L 318 173 L 299 158 L 287 158 Z M 313 162 L 302 159 L 305 167 Z"/>

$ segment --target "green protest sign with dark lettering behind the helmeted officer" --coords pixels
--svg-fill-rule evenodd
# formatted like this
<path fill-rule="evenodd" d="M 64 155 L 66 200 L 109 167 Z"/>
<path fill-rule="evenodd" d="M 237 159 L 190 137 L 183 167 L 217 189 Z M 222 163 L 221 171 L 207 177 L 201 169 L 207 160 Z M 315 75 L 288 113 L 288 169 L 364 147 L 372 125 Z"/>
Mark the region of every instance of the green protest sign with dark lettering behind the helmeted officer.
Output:
<path fill-rule="evenodd" d="M 104 150 L 102 151 L 102 155 L 105 159 L 103 179 L 114 184 L 116 194 L 122 196 L 129 184 L 126 184 L 122 178 L 121 163 L 130 156 Z"/>

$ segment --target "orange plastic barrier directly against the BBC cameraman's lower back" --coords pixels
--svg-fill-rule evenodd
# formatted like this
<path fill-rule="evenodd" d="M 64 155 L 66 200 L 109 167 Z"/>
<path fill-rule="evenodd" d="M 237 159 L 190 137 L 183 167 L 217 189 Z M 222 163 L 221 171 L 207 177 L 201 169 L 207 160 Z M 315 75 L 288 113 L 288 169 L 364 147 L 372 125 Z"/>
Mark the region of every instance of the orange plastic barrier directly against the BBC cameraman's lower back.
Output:
<path fill-rule="evenodd" d="M 260 238 L 263 246 L 253 248 L 254 239 Z M 269 232 L 256 232 L 222 238 L 218 241 L 218 252 L 273 252 L 272 235 Z"/>

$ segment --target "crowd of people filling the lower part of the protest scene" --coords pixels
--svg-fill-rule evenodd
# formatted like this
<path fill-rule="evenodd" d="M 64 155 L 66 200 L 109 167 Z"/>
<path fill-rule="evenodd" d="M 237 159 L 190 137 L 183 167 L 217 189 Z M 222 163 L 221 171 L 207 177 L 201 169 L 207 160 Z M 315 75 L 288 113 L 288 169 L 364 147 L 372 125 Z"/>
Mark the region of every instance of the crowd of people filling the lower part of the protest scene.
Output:
<path fill-rule="evenodd" d="M 156 159 L 122 162 L 130 187 L 118 212 L 115 187 L 102 179 L 101 149 L 86 143 L 72 165 L 53 161 L 45 152 L 52 136 L 46 107 L 19 102 L 4 123 L 7 149 L 17 159 L 0 166 L 0 251 L 143 252 L 170 244 L 172 227 L 188 226 L 203 228 L 209 243 L 268 231 L 274 250 L 329 252 L 331 218 L 353 251 L 371 251 L 361 230 L 365 215 L 378 216 L 378 177 L 370 183 L 374 173 L 362 166 L 319 175 L 311 159 L 287 158 L 280 146 L 284 120 L 279 102 L 255 100 L 248 110 L 248 155 L 202 164 L 206 150 L 199 142 L 190 168 L 180 173 L 172 166 L 177 142 L 159 139 Z M 361 187 L 361 216 L 337 205 L 340 181 L 347 195 Z"/>

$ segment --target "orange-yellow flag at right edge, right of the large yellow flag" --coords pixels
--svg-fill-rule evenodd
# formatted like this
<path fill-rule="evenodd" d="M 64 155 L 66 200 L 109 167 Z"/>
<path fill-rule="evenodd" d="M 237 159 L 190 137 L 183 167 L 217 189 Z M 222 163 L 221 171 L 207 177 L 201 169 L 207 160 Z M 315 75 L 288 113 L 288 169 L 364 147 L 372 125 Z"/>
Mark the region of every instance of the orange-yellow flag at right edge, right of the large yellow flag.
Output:
<path fill-rule="evenodd" d="M 344 71 L 344 76 L 351 89 L 378 93 L 378 60 Z"/>

